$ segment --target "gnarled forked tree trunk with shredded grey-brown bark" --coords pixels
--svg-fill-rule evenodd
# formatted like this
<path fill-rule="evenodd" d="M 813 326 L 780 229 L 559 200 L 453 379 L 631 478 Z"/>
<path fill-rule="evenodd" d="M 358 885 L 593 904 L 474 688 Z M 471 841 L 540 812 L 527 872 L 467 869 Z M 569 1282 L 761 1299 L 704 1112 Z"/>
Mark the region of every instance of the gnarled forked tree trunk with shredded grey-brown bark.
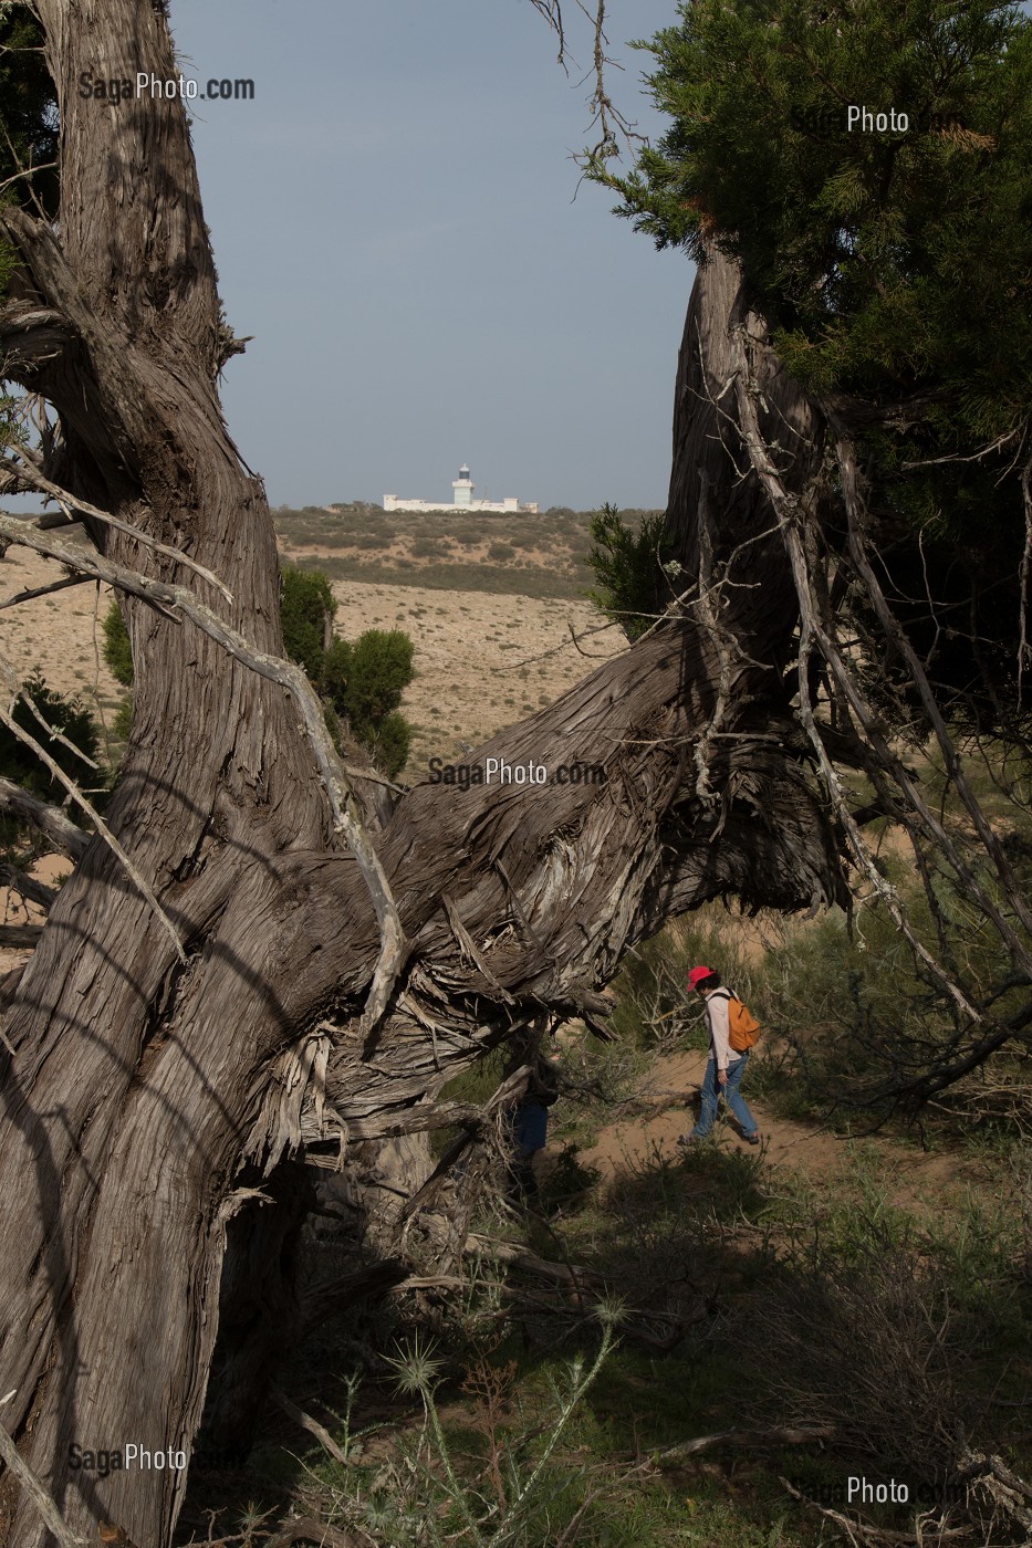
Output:
<path fill-rule="evenodd" d="M 62 108 L 60 240 L 3 218 L 22 269 L 0 345 L 60 415 L 62 481 L 186 550 L 234 602 L 99 526 L 98 546 L 191 584 L 277 650 L 273 525 L 218 409 L 226 336 L 183 110 L 76 94 L 84 70 L 172 76 L 163 8 L 39 0 L 39 12 Z M 809 772 L 769 740 L 795 613 L 779 545 L 761 536 L 762 498 L 708 401 L 734 305 L 734 276 L 714 260 L 682 351 L 671 500 L 682 563 L 703 582 L 753 540 L 733 584 L 703 587 L 702 604 L 476 754 L 601 763 L 604 786 L 421 785 L 400 802 L 377 845 L 411 954 L 370 1037 L 358 1017 L 377 921 L 294 706 L 189 622 L 129 604 L 136 697 L 110 822 L 186 963 L 95 841 L 22 980 L 8 1020 L 17 1053 L 3 1056 L 3 1423 L 74 1528 L 107 1520 L 144 1548 L 169 1543 L 183 1472 L 101 1480 L 70 1469 L 70 1446 L 189 1455 L 228 1229 L 242 1262 L 251 1221 L 279 1243 L 290 1305 L 302 1204 L 285 1169 L 299 1133 L 313 1152 L 389 1135 L 542 1011 L 603 1015 L 623 952 L 671 912 L 721 895 L 784 909 L 841 896 Z M 770 413 L 798 427 L 803 477 L 806 409 L 773 365 L 767 385 Z M 293 1084 L 313 1039 L 329 1039 L 325 1082 Z M 228 1361 L 246 1375 L 226 1389 L 228 1432 L 274 1333 L 267 1297 L 251 1313 L 245 1300 L 234 1268 Z M 9 1478 L 3 1491 L 8 1548 L 39 1548 L 29 1505 Z"/>

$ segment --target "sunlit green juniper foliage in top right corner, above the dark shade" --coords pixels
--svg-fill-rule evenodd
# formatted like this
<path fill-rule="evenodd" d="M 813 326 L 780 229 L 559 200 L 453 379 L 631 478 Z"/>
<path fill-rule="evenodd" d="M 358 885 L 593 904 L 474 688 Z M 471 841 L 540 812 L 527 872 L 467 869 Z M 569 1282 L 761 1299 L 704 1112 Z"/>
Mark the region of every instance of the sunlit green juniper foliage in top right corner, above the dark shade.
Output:
<path fill-rule="evenodd" d="M 998 0 L 699 0 L 651 50 L 673 125 L 618 183 L 660 246 L 741 259 L 792 372 L 931 384 L 968 433 L 1032 407 L 1032 23 Z M 906 133 L 846 130 L 897 108 Z"/>

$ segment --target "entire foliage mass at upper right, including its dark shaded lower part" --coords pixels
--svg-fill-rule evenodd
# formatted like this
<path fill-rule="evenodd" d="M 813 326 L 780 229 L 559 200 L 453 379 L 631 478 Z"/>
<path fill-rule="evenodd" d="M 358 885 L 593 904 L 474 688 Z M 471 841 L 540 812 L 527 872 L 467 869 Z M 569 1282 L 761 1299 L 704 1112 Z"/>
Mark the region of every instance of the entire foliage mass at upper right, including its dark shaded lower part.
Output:
<path fill-rule="evenodd" d="M 1032 20 L 999 0 L 697 0 L 680 17 L 640 45 L 666 135 L 628 176 L 589 170 L 659 246 L 741 262 L 789 370 L 862 443 L 897 613 L 955 714 L 1020 717 Z M 849 132 L 851 104 L 910 128 Z"/>

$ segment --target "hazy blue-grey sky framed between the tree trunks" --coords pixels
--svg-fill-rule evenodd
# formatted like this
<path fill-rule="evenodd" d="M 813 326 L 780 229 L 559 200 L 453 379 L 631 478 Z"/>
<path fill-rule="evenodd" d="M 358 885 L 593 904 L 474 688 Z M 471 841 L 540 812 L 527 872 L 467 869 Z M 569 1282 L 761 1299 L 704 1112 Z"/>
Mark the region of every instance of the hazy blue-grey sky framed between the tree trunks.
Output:
<path fill-rule="evenodd" d="M 589 33 L 567 0 L 572 46 Z M 609 0 L 642 127 L 674 0 Z M 581 187 L 589 84 L 528 0 L 172 0 L 232 328 L 223 401 L 274 505 L 477 497 L 663 506 L 691 265 Z"/>

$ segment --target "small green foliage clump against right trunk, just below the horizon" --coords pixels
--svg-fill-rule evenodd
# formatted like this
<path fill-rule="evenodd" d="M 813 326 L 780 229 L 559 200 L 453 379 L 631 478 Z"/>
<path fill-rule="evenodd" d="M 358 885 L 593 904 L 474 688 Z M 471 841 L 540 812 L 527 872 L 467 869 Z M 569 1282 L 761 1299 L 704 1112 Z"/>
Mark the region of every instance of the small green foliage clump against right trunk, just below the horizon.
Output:
<path fill-rule="evenodd" d="M 598 590 L 589 596 L 620 624 L 628 639 L 637 639 L 669 599 L 663 515 L 643 515 L 635 531 L 615 505 L 604 505 L 592 514 L 589 533 L 587 563 L 598 582 Z"/>

